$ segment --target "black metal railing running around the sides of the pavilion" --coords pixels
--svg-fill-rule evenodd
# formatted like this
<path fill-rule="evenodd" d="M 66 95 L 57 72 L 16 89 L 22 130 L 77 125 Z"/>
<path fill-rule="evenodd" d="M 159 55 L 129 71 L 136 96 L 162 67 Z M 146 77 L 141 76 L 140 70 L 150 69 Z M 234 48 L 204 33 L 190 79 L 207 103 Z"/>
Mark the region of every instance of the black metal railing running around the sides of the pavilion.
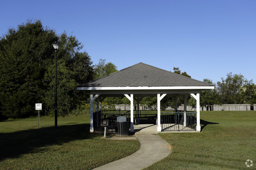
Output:
<path fill-rule="evenodd" d="M 118 116 L 125 116 L 131 122 L 130 110 L 103 110 L 94 113 L 94 126 L 99 126 L 101 120 L 109 120 L 107 130 L 115 132 L 115 122 Z M 161 110 L 160 122 L 162 131 L 194 131 L 196 127 L 196 112 L 185 112 L 182 110 Z M 157 124 L 157 110 L 134 110 L 134 124 Z M 185 123 L 184 123 L 185 119 Z"/>

